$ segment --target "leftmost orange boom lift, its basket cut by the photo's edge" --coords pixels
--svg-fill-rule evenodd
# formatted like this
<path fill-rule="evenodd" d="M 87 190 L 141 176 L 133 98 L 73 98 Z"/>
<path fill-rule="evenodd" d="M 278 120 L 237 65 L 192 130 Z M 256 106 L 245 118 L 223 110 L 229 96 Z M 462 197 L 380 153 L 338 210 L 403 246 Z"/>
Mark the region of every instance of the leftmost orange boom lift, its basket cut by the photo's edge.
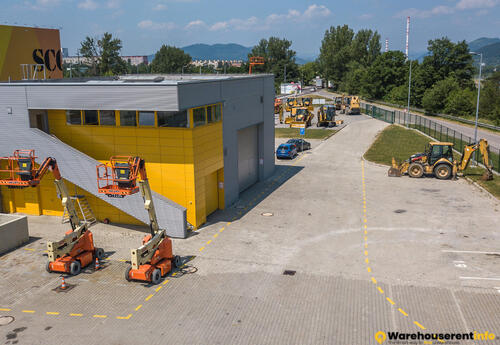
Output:
<path fill-rule="evenodd" d="M 94 262 L 95 258 L 101 260 L 104 250 L 94 247 L 94 239 L 87 223 L 81 224 L 55 158 L 46 158 L 38 168 L 36 158 L 34 150 L 16 150 L 13 156 L 0 157 L 0 167 L 6 166 L 6 169 L 0 168 L 0 185 L 8 188 L 36 187 L 43 176 L 49 170 L 52 171 L 57 193 L 69 214 L 71 230 L 66 232 L 62 240 L 47 242 L 49 261 L 46 269 L 48 272 L 77 275 L 82 267 Z"/>

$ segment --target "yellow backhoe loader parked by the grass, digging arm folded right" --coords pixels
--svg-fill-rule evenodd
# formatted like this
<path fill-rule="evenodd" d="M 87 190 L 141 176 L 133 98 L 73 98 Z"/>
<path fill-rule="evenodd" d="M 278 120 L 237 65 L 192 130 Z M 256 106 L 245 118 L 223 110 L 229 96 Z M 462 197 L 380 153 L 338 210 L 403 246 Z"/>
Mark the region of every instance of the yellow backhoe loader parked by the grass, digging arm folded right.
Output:
<path fill-rule="evenodd" d="M 411 155 L 409 159 L 399 165 L 393 157 L 392 167 L 387 173 L 391 177 L 408 174 L 410 177 L 418 178 L 427 174 L 440 180 L 446 180 L 450 177 L 456 178 L 458 173 L 463 174 L 464 170 L 467 169 L 472 154 L 478 149 L 483 157 L 483 165 L 486 167 L 482 180 L 492 180 L 493 171 L 489 160 L 488 142 L 484 139 L 481 139 L 479 143 L 466 145 L 460 161 L 453 158 L 453 143 L 430 142 L 425 152 Z"/>

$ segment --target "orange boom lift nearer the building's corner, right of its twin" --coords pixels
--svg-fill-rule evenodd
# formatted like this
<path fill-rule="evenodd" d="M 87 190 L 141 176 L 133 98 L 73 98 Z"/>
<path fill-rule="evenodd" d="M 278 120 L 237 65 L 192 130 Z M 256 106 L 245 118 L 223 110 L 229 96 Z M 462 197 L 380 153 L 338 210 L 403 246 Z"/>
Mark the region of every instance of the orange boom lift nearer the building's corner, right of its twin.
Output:
<path fill-rule="evenodd" d="M 149 214 L 151 234 L 142 239 L 142 246 L 130 252 L 131 266 L 125 271 L 128 281 L 139 280 L 158 284 L 182 260 L 172 254 L 172 240 L 160 229 L 153 204 L 153 193 L 146 174 L 146 163 L 140 157 L 115 156 L 108 164 L 97 166 L 99 193 L 123 198 L 141 191 L 144 208 Z"/>

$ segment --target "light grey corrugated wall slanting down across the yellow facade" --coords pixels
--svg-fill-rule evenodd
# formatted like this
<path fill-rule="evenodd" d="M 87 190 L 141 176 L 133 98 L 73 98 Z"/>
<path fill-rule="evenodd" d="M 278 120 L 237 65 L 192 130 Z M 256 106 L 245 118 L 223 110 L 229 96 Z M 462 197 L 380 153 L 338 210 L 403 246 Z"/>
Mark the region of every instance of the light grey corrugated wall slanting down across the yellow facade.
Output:
<path fill-rule="evenodd" d="M 139 193 L 124 199 L 112 199 L 97 192 L 95 167 L 98 161 L 60 140 L 29 128 L 24 86 L 0 85 L 0 155 L 9 156 L 16 149 L 35 149 L 40 160 L 54 157 L 68 181 L 112 204 L 132 217 L 148 223 L 148 214 Z M 12 114 L 8 114 L 12 108 Z M 40 163 L 40 161 L 38 161 Z M 187 236 L 186 209 L 154 193 L 160 227 L 172 237 Z"/>

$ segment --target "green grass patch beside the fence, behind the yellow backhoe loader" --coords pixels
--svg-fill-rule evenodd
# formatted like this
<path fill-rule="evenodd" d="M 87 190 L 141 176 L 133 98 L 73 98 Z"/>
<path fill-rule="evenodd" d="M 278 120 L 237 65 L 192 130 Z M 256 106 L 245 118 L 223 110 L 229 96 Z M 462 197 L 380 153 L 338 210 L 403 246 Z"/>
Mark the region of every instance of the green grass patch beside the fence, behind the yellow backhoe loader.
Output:
<path fill-rule="evenodd" d="M 375 142 L 368 151 L 366 151 L 365 159 L 390 166 L 392 157 L 396 158 L 396 161 L 400 163 L 408 159 L 414 153 L 423 152 L 425 150 L 425 145 L 430 141 L 431 139 L 417 131 L 391 125 L 382 131 L 375 139 Z M 455 155 L 455 157 L 459 159 L 457 156 L 458 155 Z M 494 175 L 492 181 L 481 181 L 481 176 L 484 171 L 485 169 L 483 168 L 467 168 L 464 175 L 474 180 L 500 199 L 500 177 Z M 408 177 L 403 176 L 403 178 Z"/>

